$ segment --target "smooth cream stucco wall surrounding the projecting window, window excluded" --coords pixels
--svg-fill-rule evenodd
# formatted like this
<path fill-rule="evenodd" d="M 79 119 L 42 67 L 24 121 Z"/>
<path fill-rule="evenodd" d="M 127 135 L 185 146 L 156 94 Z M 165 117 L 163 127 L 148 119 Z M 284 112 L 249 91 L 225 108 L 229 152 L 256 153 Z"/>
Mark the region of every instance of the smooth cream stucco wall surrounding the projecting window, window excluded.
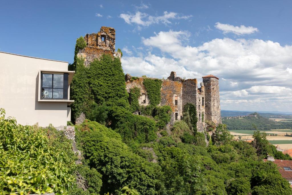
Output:
<path fill-rule="evenodd" d="M 67 71 L 68 63 L 0 52 L 0 108 L 22 125 L 67 125 L 68 102 L 38 101 L 40 70 Z"/>

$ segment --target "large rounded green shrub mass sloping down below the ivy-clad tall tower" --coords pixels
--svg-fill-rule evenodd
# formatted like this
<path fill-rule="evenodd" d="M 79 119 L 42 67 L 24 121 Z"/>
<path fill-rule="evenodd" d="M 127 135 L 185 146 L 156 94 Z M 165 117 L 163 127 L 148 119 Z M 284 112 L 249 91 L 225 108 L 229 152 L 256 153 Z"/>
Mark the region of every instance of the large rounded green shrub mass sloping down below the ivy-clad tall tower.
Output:
<path fill-rule="evenodd" d="M 131 186 L 141 194 L 156 194 L 159 166 L 134 154 L 118 133 L 88 120 L 76 130 L 85 160 L 102 174 L 100 194 L 117 194 L 123 186 Z"/>

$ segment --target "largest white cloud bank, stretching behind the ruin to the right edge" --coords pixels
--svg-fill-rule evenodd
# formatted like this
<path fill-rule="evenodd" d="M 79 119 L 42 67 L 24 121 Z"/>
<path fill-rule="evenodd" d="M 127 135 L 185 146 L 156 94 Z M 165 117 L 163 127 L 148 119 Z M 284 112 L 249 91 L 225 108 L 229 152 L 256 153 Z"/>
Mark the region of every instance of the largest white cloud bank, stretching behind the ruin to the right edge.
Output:
<path fill-rule="evenodd" d="M 144 53 L 132 50 L 123 57 L 124 72 L 167 78 L 175 71 L 198 82 L 212 74 L 224 78 L 219 80 L 222 109 L 292 110 L 291 45 L 224 38 L 191 46 L 189 39 L 190 32 L 172 30 L 142 37 Z"/>

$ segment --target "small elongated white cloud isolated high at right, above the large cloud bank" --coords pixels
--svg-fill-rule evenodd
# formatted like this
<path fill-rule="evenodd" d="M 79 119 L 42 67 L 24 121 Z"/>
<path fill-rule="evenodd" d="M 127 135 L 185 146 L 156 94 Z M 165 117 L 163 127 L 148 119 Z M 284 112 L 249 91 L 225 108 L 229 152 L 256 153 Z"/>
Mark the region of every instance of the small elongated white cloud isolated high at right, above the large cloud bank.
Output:
<path fill-rule="evenodd" d="M 222 24 L 220 22 L 217 22 L 215 24 L 215 27 L 219 30 L 222 30 L 224 34 L 234 33 L 237 35 L 243 35 L 243 34 L 252 34 L 252 33 L 258 32 L 258 29 L 252 26 L 248 26 L 248 27 L 244 25 L 233 26 L 230 24 Z"/>

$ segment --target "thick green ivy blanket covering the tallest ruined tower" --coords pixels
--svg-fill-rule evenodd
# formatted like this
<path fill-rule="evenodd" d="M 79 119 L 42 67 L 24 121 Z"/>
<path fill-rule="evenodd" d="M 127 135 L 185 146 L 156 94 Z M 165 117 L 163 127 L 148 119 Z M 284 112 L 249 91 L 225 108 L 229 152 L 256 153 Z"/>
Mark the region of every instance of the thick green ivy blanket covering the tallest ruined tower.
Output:
<path fill-rule="evenodd" d="M 84 59 L 77 58 L 75 71 L 70 87 L 71 97 L 75 100 L 71 106 L 74 119 L 80 113 L 85 113 L 88 118 L 96 104 L 129 108 L 125 75 L 118 58 L 113 60 L 111 56 L 103 55 L 88 68 L 84 66 Z"/>

